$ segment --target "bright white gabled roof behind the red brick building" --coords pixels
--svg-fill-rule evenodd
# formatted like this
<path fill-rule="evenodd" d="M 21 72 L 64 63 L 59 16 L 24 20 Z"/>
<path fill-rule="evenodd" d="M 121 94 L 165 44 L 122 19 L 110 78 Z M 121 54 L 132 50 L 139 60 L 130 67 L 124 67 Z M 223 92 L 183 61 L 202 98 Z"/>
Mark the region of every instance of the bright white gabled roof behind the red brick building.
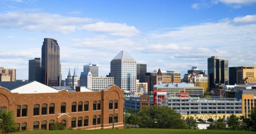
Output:
<path fill-rule="evenodd" d="M 11 92 L 18 92 L 18 93 L 49 93 L 49 92 L 58 92 L 58 90 L 41 84 L 40 82 L 37 81 L 33 81 L 30 82 L 26 85 L 22 85 L 20 87 L 17 87 L 13 90 L 11 90 Z"/>

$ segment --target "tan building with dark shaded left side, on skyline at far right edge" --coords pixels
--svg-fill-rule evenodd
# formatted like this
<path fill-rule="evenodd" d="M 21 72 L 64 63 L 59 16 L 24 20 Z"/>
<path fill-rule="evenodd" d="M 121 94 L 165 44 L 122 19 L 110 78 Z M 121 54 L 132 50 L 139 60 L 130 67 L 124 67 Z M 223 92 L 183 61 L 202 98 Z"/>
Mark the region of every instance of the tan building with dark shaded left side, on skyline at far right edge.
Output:
<path fill-rule="evenodd" d="M 236 67 L 236 82 L 237 84 L 256 83 L 256 67 Z"/>

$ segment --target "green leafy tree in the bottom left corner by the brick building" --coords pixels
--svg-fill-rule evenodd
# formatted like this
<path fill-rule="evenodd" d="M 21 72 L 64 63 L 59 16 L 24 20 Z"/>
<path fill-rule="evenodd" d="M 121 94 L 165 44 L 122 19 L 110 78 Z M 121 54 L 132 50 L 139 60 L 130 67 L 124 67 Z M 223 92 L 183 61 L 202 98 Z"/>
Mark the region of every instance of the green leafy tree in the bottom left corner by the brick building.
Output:
<path fill-rule="evenodd" d="M 7 134 L 17 131 L 17 126 L 13 119 L 13 112 L 2 110 L 0 111 L 0 133 Z"/>

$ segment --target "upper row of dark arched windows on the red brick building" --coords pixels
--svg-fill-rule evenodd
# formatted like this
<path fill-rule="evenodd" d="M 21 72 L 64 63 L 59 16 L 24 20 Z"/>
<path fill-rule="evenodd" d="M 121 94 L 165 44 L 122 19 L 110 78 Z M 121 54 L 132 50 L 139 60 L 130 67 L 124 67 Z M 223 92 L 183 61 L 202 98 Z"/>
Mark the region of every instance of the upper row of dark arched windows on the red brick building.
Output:
<path fill-rule="evenodd" d="M 77 103 L 73 102 L 71 105 L 71 112 L 82 112 L 82 111 L 89 111 L 89 102 L 86 101 L 84 102 L 79 102 L 78 107 L 76 107 Z M 118 100 L 115 100 L 115 109 L 118 109 Z M 47 115 L 47 104 L 42 104 L 41 105 L 41 115 Z M 108 105 L 109 110 L 113 110 L 113 100 L 109 101 Z M 93 110 L 101 110 L 101 101 L 94 101 L 93 102 Z M 21 115 L 20 115 L 21 113 Z M 55 104 L 49 104 L 49 115 L 55 113 Z M 66 103 L 61 103 L 61 113 L 66 113 Z M 34 104 L 34 116 L 39 116 L 40 115 L 40 105 L 39 104 Z M 25 117 L 27 116 L 27 105 L 20 105 L 17 106 L 17 117 Z"/>

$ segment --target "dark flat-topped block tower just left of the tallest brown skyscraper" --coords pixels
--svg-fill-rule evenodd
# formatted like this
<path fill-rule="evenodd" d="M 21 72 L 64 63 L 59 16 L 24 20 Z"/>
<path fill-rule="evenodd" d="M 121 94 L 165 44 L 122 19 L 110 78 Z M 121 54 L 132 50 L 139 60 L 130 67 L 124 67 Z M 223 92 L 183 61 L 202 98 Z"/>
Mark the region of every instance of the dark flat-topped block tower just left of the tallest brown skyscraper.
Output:
<path fill-rule="evenodd" d="M 34 60 L 28 61 L 28 81 L 41 82 L 41 59 L 34 58 Z"/>

